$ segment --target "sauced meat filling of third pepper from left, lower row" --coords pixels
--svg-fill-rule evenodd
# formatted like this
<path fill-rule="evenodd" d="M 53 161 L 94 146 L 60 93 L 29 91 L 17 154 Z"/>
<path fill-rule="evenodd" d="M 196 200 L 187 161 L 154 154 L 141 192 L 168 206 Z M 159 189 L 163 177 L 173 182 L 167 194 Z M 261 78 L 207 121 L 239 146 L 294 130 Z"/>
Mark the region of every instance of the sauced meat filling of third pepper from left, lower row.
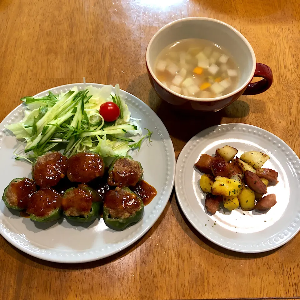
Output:
<path fill-rule="evenodd" d="M 99 195 L 90 187 L 70 188 L 64 193 L 62 208 L 67 217 L 87 217 L 93 202 L 99 201 Z"/>

